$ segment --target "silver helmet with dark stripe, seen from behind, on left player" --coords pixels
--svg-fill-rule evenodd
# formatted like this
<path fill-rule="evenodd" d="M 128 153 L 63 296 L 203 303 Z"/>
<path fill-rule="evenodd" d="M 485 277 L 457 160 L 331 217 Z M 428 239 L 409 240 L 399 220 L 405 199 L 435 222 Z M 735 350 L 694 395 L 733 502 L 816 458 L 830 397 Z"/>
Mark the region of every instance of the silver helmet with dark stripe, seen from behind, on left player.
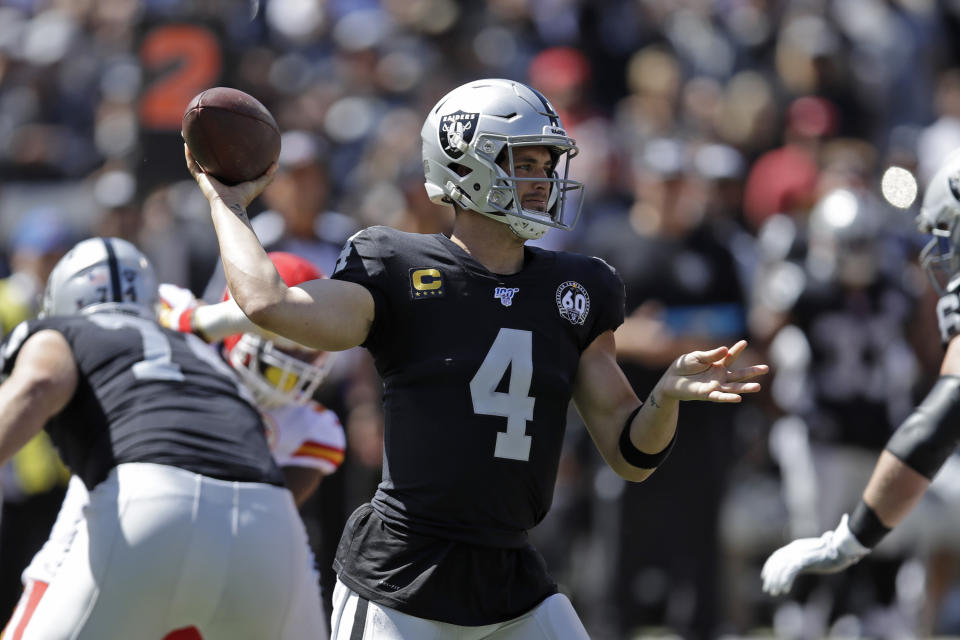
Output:
<path fill-rule="evenodd" d="M 40 315 L 120 311 L 155 318 L 157 277 L 147 257 L 120 238 L 83 240 L 57 262 Z"/>

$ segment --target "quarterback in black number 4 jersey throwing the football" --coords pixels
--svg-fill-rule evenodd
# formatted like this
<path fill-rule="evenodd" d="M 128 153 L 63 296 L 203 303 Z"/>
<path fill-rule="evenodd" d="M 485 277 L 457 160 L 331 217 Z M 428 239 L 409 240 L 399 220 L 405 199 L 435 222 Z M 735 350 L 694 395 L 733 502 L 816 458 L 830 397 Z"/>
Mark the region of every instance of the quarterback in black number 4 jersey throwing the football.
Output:
<path fill-rule="evenodd" d="M 641 403 L 616 362 L 623 284 L 601 260 L 526 247 L 570 228 L 582 185 L 556 111 L 519 82 L 471 82 L 423 126 L 428 194 L 450 237 L 373 227 L 330 280 L 286 287 L 232 187 L 187 164 L 211 205 L 227 281 L 260 326 L 327 350 L 362 345 L 384 382 L 384 468 L 340 541 L 333 638 L 586 638 L 527 530 L 550 508 L 572 400 L 604 459 L 640 481 L 681 400 L 738 402 L 765 365 L 745 342 L 681 356 Z"/>

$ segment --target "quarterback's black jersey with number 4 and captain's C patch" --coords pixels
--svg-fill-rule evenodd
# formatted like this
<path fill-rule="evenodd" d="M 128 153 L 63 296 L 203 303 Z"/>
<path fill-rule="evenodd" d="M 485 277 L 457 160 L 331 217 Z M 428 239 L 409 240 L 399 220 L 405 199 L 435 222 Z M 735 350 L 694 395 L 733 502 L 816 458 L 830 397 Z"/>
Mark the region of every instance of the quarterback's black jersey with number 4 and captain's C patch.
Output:
<path fill-rule="evenodd" d="M 397 527 L 515 547 L 550 508 L 580 354 L 623 322 L 623 282 L 597 258 L 525 249 L 497 275 L 443 235 L 371 227 L 332 276 L 363 285 L 364 346 L 384 383 L 383 480 Z"/>

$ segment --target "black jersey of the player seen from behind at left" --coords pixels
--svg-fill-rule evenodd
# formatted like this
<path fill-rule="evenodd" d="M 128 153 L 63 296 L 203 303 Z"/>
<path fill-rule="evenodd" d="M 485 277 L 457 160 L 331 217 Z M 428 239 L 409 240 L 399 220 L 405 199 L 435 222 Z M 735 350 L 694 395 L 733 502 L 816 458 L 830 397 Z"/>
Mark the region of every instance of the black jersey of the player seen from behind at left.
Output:
<path fill-rule="evenodd" d="M 4 343 L 5 373 L 23 342 L 44 329 L 66 338 L 78 372 L 73 398 L 45 428 L 88 488 L 124 462 L 283 484 L 259 411 L 196 336 L 121 313 L 31 320 Z"/>

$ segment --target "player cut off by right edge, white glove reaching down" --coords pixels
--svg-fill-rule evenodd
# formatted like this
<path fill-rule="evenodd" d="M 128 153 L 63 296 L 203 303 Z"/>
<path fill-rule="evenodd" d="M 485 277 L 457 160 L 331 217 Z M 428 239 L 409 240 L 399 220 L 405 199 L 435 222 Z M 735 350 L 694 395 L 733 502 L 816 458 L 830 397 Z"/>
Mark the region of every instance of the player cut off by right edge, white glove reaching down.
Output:
<path fill-rule="evenodd" d="M 870 553 L 920 501 L 960 441 L 960 155 L 930 179 L 917 225 L 933 235 L 920 261 L 940 295 L 940 377 L 887 441 L 853 512 L 834 530 L 794 540 L 767 559 L 761 577 L 772 595 L 788 593 L 801 573 L 841 571 Z"/>

